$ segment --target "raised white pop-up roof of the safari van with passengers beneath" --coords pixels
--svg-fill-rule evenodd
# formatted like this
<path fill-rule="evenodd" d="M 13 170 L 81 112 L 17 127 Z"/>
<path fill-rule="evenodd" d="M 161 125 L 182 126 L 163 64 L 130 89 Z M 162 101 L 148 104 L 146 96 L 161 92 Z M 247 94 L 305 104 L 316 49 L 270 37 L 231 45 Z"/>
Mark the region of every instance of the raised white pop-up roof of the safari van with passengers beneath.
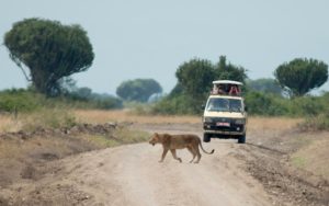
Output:
<path fill-rule="evenodd" d="M 216 80 L 213 81 L 213 90 L 211 94 L 213 95 L 232 95 L 232 96 L 241 96 L 241 85 L 242 82 L 231 81 L 231 80 Z"/>

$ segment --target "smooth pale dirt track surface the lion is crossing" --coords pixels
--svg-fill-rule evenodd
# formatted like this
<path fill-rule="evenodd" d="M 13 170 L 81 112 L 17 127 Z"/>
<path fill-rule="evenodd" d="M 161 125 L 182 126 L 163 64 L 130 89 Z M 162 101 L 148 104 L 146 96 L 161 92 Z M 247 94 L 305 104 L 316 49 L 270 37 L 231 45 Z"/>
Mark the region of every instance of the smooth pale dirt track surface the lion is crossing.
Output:
<path fill-rule="evenodd" d="M 80 191 L 78 205 L 270 205 L 262 186 L 239 169 L 234 157 L 234 150 L 243 146 L 213 140 L 204 147 L 215 153 L 203 153 L 198 164 L 189 163 L 188 150 L 178 152 L 183 163 L 171 153 L 158 163 L 162 148 L 148 144 L 66 158 L 59 162 L 64 169 L 55 174 L 64 178 L 54 182 L 49 176 L 50 185 L 46 178 L 47 188 L 39 193 L 46 195 L 52 185 L 70 185 Z"/>

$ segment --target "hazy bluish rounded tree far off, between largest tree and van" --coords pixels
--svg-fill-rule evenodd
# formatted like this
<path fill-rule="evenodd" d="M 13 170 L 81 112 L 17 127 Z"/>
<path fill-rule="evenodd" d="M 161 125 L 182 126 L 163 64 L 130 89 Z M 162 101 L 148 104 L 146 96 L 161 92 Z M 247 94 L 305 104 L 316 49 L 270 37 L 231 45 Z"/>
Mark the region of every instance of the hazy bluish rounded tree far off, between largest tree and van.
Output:
<path fill-rule="evenodd" d="M 135 79 L 122 82 L 116 94 L 126 101 L 146 102 L 154 93 L 161 93 L 161 85 L 154 79 Z"/>

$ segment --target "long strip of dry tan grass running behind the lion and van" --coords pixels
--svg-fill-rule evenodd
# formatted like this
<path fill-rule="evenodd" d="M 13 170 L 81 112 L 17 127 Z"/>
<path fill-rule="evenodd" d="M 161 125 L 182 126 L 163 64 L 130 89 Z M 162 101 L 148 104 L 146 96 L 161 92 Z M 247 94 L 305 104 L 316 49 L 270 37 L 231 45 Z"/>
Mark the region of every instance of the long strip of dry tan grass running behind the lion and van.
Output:
<path fill-rule="evenodd" d="M 70 114 L 70 115 L 68 115 Z M 138 115 L 129 111 L 77 110 L 73 112 L 43 111 L 26 115 L 0 115 L 0 133 L 31 129 L 37 126 L 63 126 L 66 124 L 90 123 L 138 123 L 138 124 L 202 124 L 201 116 Z M 288 117 L 249 117 L 248 133 L 258 130 L 286 130 L 302 123 L 302 118 Z"/>

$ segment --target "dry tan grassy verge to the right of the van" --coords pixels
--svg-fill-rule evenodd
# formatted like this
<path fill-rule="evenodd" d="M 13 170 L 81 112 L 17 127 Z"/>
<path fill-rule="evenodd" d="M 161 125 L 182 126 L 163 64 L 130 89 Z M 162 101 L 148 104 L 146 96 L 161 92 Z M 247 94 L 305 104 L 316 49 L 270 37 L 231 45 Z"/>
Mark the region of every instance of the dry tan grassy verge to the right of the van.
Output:
<path fill-rule="evenodd" d="M 299 131 L 303 118 L 250 117 L 247 134 L 266 147 L 290 153 L 295 168 L 329 180 L 329 133 Z"/>

